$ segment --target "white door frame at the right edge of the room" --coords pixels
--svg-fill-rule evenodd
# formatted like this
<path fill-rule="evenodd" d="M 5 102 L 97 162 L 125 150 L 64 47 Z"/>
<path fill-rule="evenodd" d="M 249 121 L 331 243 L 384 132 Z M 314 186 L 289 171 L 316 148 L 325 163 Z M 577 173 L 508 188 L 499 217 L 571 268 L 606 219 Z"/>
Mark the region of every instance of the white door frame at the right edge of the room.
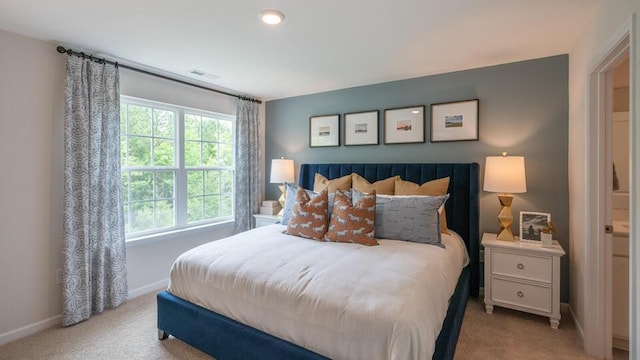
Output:
<path fill-rule="evenodd" d="M 623 25 L 622 30 L 610 42 L 600 60 L 592 67 L 587 79 L 587 139 L 586 139 L 586 216 L 585 221 L 585 321 L 584 346 L 590 355 L 599 358 L 612 357 L 612 244 L 611 236 L 605 234 L 604 225 L 611 221 L 612 182 L 610 127 L 613 113 L 610 86 L 611 72 L 628 54 L 629 56 L 629 354 L 633 359 L 637 354 L 637 292 L 638 254 L 640 247 L 635 244 L 638 216 L 638 194 L 633 186 L 638 176 L 638 141 L 640 131 L 636 124 L 636 19 L 635 14 Z M 609 238 L 609 240 L 607 240 Z M 608 280 L 609 279 L 609 280 Z M 608 281 L 607 281 L 608 280 Z M 578 295 L 580 296 L 580 295 Z M 604 326 L 603 326 L 604 324 Z"/>

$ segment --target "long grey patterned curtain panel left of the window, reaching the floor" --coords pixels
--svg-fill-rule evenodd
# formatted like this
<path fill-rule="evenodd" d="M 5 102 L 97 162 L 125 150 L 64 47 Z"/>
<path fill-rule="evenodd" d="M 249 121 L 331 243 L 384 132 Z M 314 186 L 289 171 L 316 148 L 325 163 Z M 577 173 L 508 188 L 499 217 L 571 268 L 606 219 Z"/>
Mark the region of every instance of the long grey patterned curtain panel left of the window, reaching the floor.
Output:
<path fill-rule="evenodd" d="M 127 299 L 119 83 L 116 66 L 67 57 L 64 326 Z"/>

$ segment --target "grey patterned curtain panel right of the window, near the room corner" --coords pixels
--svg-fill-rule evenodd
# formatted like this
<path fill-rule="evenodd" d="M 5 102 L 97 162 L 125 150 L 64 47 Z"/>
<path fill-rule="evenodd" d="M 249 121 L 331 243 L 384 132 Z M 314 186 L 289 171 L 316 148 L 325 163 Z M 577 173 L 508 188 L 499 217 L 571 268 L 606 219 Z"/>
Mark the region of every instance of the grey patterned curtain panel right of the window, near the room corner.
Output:
<path fill-rule="evenodd" d="M 235 232 L 249 230 L 260 210 L 260 121 L 258 104 L 236 102 Z"/>

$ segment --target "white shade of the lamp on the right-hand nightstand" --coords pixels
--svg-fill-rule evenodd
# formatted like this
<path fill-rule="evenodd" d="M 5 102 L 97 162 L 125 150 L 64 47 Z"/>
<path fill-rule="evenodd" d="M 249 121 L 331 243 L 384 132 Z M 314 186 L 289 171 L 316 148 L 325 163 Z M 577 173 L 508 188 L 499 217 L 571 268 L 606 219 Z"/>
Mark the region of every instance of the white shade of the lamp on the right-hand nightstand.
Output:
<path fill-rule="evenodd" d="M 527 192 L 523 156 L 487 156 L 484 191 L 515 194 Z"/>

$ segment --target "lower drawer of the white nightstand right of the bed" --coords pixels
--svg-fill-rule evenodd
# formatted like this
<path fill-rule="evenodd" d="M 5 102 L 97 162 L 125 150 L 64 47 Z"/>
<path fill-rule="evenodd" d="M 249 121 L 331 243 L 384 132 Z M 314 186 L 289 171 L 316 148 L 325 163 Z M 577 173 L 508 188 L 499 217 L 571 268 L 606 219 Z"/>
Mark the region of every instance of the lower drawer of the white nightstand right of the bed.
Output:
<path fill-rule="evenodd" d="M 551 313 L 551 288 L 491 279 L 491 300 Z"/>

